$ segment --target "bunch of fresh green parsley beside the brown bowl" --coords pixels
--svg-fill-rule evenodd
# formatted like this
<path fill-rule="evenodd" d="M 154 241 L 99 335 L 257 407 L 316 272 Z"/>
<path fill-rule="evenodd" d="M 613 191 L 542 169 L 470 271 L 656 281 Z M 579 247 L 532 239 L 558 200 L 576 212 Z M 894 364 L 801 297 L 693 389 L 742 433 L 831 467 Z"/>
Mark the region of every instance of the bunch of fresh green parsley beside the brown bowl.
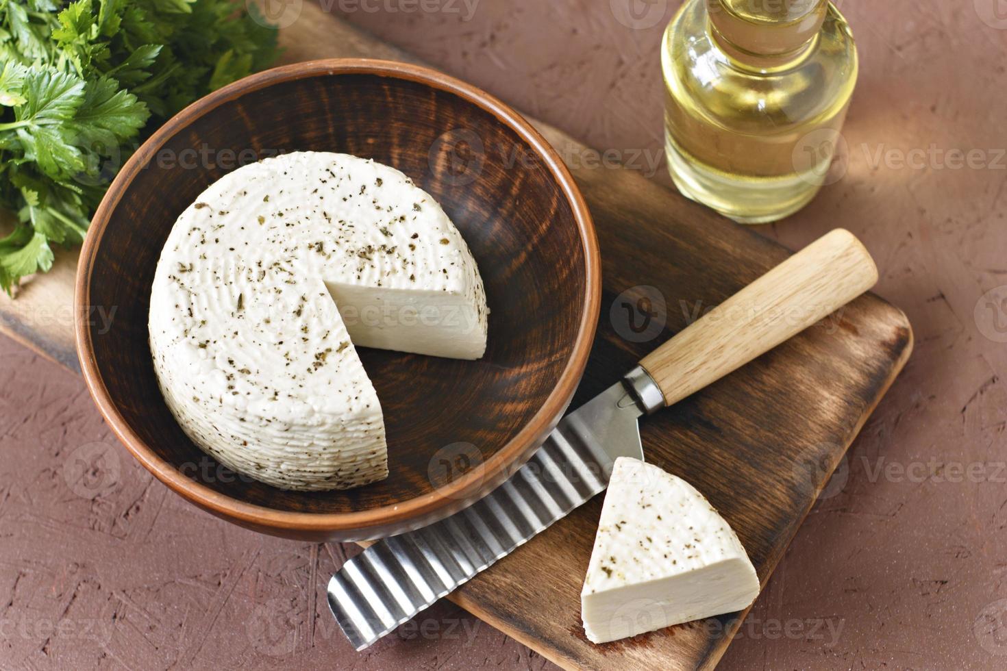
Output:
<path fill-rule="evenodd" d="M 262 69 L 276 30 L 233 0 L 0 0 L 0 287 L 74 244 L 148 131 Z"/>

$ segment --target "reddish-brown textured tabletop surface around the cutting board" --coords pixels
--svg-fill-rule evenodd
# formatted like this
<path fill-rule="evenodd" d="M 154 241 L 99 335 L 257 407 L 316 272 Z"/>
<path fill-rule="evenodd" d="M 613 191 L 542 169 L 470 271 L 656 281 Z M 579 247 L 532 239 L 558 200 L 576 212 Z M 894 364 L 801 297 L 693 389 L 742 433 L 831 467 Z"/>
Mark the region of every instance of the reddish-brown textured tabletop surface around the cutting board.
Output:
<path fill-rule="evenodd" d="M 627 20 L 630 1 L 324 6 L 668 183 L 658 45 L 679 3 Z M 853 230 L 916 349 L 720 668 L 1001 669 L 1007 2 L 840 4 L 862 58 L 845 175 L 761 230 L 793 247 Z M 955 169 L 949 150 L 978 153 Z M 198 512 L 79 377 L 8 340 L 0 357 L 0 668 L 552 668 L 449 604 L 353 653 L 320 599 L 340 546 Z"/>

